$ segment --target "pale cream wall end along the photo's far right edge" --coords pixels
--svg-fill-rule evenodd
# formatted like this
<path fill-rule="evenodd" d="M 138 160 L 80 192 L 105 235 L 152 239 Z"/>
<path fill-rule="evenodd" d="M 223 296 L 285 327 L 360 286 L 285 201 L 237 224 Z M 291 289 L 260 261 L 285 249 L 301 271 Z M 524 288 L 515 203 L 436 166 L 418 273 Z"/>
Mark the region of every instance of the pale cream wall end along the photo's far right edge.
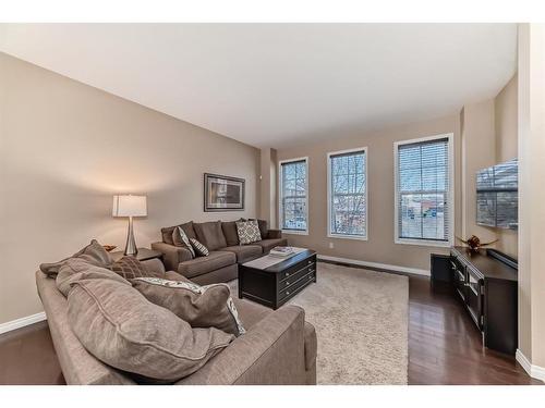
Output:
<path fill-rule="evenodd" d="M 545 25 L 519 25 L 519 349 L 545 368 Z M 543 374 L 542 374 L 543 375 Z"/>

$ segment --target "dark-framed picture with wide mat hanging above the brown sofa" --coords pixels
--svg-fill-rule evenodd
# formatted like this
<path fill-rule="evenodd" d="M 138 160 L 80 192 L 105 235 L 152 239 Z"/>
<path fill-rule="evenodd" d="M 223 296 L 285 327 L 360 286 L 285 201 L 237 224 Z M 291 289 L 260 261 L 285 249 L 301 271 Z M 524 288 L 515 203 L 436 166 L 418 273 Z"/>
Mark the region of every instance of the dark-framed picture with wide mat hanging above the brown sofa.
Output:
<path fill-rule="evenodd" d="M 205 173 L 205 212 L 244 210 L 244 178 Z"/>

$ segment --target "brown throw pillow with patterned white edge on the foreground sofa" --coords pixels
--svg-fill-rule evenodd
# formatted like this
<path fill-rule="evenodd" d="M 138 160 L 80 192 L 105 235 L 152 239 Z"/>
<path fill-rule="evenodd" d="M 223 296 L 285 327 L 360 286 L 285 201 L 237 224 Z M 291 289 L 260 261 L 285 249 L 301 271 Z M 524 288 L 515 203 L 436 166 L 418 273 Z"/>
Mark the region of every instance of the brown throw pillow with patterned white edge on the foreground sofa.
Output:
<path fill-rule="evenodd" d="M 245 333 L 226 284 L 199 286 L 158 277 L 136 277 L 131 283 L 150 302 L 169 309 L 192 327 L 216 327 L 235 336 Z"/>

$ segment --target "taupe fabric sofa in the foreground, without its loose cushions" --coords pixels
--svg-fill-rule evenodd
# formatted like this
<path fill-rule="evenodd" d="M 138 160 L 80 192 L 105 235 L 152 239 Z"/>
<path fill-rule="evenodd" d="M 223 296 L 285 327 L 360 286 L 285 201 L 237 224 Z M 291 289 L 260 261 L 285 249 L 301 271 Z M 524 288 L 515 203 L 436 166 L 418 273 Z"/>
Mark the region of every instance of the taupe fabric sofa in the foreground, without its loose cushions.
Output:
<path fill-rule="evenodd" d="M 183 280 L 175 272 L 165 272 L 157 259 L 144 263 L 166 279 Z M 83 347 L 69 324 L 68 301 L 55 279 L 37 271 L 36 283 L 66 383 L 135 384 L 131 375 Z M 177 384 L 316 384 L 316 333 L 305 322 L 304 310 L 283 306 L 272 311 L 246 300 L 233 301 L 246 333 Z"/>

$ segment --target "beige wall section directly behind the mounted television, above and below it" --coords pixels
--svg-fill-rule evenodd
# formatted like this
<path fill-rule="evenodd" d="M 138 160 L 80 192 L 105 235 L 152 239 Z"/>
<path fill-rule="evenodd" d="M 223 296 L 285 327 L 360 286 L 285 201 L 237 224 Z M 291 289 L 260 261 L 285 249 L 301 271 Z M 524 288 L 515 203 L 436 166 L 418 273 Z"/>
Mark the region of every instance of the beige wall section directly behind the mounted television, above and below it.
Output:
<path fill-rule="evenodd" d="M 518 76 L 514 75 L 494 100 L 496 161 L 501 163 L 518 157 Z M 496 248 L 518 256 L 518 232 L 498 228 Z"/>

